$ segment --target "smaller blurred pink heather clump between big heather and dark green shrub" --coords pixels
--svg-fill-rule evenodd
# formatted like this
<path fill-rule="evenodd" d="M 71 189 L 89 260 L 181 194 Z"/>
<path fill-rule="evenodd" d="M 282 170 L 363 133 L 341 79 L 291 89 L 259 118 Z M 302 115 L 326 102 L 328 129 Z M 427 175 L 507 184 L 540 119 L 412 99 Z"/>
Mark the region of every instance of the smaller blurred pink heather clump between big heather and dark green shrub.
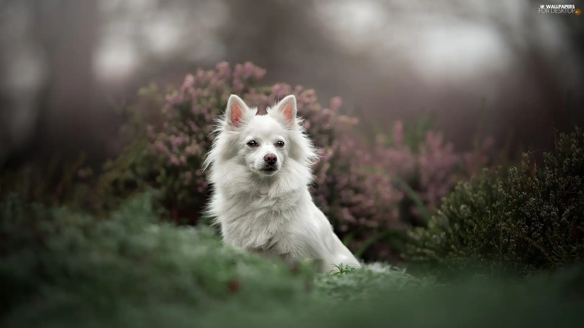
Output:
<path fill-rule="evenodd" d="M 379 135 L 378 141 L 377 158 L 384 159 L 392 183 L 405 193 L 401 218 L 413 225 L 425 226 L 459 181 L 493 165 L 493 138 L 475 138 L 470 151 L 457 152 L 442 132 L 433 130 L 427 114 L 410 125 L 397 121 L 391 134 Z"/>

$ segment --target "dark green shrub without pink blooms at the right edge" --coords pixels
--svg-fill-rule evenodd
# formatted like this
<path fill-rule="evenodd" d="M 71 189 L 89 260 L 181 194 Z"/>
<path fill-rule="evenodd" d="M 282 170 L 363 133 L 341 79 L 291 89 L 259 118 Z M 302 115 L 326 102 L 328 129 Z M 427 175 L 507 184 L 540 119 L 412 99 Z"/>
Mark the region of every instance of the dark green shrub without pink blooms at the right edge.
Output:
<path fill-rule="evenodd" d="M 485 170 L 460 183 L 427 228 L 416 228 L 406 260 L 527 274 L 584 258 L 584 134 L 560 134 L 543 165 L 523 154 L 505 176 Z"/>

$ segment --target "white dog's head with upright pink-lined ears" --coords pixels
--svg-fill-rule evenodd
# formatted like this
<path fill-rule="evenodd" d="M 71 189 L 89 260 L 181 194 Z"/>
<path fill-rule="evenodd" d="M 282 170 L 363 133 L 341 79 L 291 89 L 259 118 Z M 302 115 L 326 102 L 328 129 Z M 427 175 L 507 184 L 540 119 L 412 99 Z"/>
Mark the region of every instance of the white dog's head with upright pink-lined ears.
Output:
<path fill-rule="evenodd" d="M 316 158 L 297 118 L 294 95 L 284 97 L 266 111 L 266 115 L 256 115 L 257 109 L 231 95 L 207 160 L 235 158 L 251 173 L 273 176 L 292 162 L 306 166 Z"/>

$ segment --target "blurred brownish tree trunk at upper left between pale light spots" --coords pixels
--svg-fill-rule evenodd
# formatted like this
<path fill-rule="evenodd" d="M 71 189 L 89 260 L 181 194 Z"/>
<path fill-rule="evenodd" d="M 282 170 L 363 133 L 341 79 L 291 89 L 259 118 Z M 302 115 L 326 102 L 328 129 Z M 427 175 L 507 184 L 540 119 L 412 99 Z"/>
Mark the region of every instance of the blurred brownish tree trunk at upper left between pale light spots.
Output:
<path fill-rule="evenodd" d="M 41 123 L 47 128 L 40 137 L 47 133 L 56 144 L 77 148 L 91 138 L 86 125 L 96 118 L 92 60 L 98 37 L 97 1 L 50 2 L 36 3 L 39 42 L 50 68 L 41 102 Z"/>

